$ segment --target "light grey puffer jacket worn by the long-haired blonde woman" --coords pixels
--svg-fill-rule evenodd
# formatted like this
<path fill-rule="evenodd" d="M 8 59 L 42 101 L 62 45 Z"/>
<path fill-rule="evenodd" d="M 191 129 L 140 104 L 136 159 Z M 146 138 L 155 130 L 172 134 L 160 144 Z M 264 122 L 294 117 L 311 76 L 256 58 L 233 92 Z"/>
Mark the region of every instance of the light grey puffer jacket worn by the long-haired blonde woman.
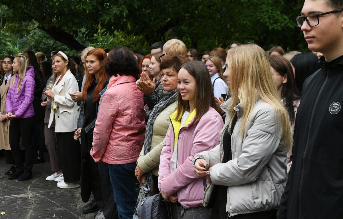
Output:
<path fill-rule="evenodd" d="M 221 105 L 224 112 L 231 101 L 230 98 Z M 197 158 L 203 158 L 212 167 L 212 183 L 205 190 L 203 206 L 207 206 L 216 184 L 228 186 L 226 211 L 229 216 L 275 209 L 286 185 L 286 151 L 280 140 L 282 124 L 276 125 L 273 107 L 259 100 L 242 138 L 241 103 L 235 111 L 238 120 L 231 138 L 232 160 L 222 164 L 223 133 L 220 145 L 194 156 L 193 165 Z M 223 130 L 227 130 L 228 124 L 229 118 L 226 118 Z"/>

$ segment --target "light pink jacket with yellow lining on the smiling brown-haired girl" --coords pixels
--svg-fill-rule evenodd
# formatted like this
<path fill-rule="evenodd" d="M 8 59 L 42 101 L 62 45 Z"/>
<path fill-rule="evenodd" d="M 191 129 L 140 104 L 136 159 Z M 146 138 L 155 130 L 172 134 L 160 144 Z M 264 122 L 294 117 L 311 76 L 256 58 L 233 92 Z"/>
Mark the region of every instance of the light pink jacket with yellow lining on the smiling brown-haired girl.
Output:
<path fill-rule="evenodd" d="M 159 188 L 170 196 L 177 192 L 180 204 L 188 209 L 202 206 L 202 197 L 207 186 L 205 178 L 199 178 L 194 172 L 194 155 L 210 151 L 213 147 L 220 144 L 220 131 L 224 123 L 223 119 L 214 108 L 210 107 L 198 124 L 193 125 L 194 118 L 181 130 L 174 130 L 177 127 L 171 114 L 170 121 L 172 128 L 167 133 L 166 143 L 163 146 L 158 170 Z M 174 142 L 176 133 L 179 133 L 177 144 L 177 168 L 171 173 L 171 157 L 174 153 Z"/>

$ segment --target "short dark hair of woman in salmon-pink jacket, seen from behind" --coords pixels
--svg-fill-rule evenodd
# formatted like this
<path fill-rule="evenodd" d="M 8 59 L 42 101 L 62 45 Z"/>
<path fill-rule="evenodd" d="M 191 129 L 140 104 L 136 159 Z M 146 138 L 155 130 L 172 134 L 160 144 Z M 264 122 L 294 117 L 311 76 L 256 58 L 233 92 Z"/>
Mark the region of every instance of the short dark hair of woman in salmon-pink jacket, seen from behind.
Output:
<path fill-rule="evenodd" d="M 133 52 L 127 47 L 111 50 L 103 64 L 109 76 L 132 75 L 136 77 L 139 74 L 137 60 Z"/>

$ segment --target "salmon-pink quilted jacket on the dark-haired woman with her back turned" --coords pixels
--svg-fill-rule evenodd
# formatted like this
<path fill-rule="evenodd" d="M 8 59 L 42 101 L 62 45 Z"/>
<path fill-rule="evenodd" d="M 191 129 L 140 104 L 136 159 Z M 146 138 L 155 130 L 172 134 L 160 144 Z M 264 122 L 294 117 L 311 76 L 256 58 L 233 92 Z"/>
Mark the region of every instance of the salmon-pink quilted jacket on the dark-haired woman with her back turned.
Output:
<path fill-rule="evenodd" d="M 133 76 L 113 76 L 104 93 L 93 131 L 91 156 L 107 164 L 135 162 L 144 136 L 143 94 Z"/>

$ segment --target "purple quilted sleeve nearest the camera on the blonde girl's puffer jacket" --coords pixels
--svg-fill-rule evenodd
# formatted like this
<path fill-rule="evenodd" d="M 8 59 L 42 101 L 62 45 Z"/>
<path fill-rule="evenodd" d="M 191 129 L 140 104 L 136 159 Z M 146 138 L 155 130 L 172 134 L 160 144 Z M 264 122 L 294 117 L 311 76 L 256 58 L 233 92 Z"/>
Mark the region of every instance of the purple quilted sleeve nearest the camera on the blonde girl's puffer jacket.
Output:
<path fill-rule="evenodd" d="M 15 112 L 16 117 L 22 116 L 26 112 L 27 108 L 32 104 L 33 99 L 34 99 L 34 92 L 35 92 L 35 80 L 34 80 L 34 78 L 24 77 L 23 82 L 22 82 L 22 88 L 21 89 L 25 89 L 25 92 L 24 92 L 25 99 L 21 103 L 21 105 L 19 106 L 17 111 Z"/>

